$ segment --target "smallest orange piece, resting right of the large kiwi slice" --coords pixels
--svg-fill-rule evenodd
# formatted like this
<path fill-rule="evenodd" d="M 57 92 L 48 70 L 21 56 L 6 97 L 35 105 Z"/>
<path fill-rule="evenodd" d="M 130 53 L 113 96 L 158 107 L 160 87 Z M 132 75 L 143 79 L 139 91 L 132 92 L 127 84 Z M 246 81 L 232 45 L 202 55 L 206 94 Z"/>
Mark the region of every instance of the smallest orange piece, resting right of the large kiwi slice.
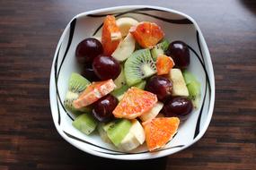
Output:
<path fill-rule="evenodd" d="M 170 72 L 174 62 L 170 56 L 167 55 L 158 55 L 156 58 L 156 71 L 157 75 L 163 75 Z"/>

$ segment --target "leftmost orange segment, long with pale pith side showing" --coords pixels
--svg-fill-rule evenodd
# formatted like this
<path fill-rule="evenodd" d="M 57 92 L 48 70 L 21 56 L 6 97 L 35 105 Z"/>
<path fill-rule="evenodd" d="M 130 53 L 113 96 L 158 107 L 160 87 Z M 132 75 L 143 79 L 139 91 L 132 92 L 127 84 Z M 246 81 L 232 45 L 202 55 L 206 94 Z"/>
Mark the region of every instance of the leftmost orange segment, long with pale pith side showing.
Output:
<path fill-rule="evenodd" d="M 79 98 L 73 102 L 73 105 L 75 108 L 91 105 L 98 99 L 109 94 L 115 88 L 116 85 L 111 79 L 108 81 L 93 82 L 83 91 Z"/>

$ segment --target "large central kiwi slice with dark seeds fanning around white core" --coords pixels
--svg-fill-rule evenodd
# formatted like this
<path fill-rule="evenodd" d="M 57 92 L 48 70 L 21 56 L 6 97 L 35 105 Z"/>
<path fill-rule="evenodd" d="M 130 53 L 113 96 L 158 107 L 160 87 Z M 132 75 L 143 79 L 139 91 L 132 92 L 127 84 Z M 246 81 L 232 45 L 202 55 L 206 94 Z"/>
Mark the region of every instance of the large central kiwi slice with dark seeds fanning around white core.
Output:
<path fill-rule="evenodd" d="M 155 62 L 149 49 L 140 49 L 130 55 L 124 65 L 128 86 L 132 86 L 156 72 Z"/>

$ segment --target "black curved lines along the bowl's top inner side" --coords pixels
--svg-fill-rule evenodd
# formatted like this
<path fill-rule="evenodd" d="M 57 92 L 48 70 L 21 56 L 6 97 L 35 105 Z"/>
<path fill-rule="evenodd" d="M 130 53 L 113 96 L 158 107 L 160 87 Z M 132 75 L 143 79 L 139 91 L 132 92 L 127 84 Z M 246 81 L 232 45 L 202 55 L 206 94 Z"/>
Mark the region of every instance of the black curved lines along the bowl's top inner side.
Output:
<path fill-rule="evenodd" d="M 163 10 L 157 10 L 157 9 L 153 9 L 153 8 L 139 8 L 139 9 L 135 9 L 135 10 L 129 10 L 127 12 L 123 12 L 123 13 L 106 13 L 106 14 L 88 14 L 87 16 L 89 17 L 105 17 L 107 15 L 115 15 L 116 17 L 122 16 L 124 14 L 128 14 L 128 13 L 137 13 L 137 14 L 143 14 L 143 15 L 147 15 L 150 17 L 153 17 L 155 19 L 161 20 L 161 21 L 167 21 L 169 23 L 175 23 L 175 24 L 193 24 L 192 21 L 190 21 L 189 19 L 180 19 L 180 20 L 172 20 L 172 19 L 167 19 L 167 18 L 162 18 L 156 15 L 152 15 L 149 13 L 140 13 L 139 11 L 159 11 L 159 12 L 165 12 Z M 100 29 L 102 29 L 103 23 L 94 31 L 93 36 L 95 36 L 98 31 Z"/>

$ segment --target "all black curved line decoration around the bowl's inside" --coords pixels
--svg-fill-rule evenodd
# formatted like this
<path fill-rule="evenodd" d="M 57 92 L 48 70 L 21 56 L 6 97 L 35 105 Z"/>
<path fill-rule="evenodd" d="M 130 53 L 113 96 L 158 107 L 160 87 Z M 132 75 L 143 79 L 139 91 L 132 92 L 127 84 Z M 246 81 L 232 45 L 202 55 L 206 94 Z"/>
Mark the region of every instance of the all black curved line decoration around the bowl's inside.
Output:
<path fill-rule="evenodd" d="M 137 11 L 150 11 L 150 10 L 158 11 L 158 10 L 151 9 L 151 8 L 137 9 Z M 133 11 L 134 11 L 134 10 L 133 10 Z M 164 11 L 163 11 L 163 12 L 164 12 Z M 130 13 L 130 11 L 125 12 L 125 13 Z M 121 15 L 123 15 L 123 14 L 125 14 L 125 13 L 119 13 L 119 14 L 115 13 L 115 14 L 117 14 L 117 16 L 121 16 Z M 139 12 L 136 12 L 136 13 L 139 13 Z M 150 16 L 151 16 L 151 14 L 148 14 L 148 13 L 139 13 L 139 14 L 146 14 L 146 15 L 150 15 Z M 105 14 L 105 15 L 106 15 L 106 14 Z M 105 15 L 104 15 L 104 16 L 105 16 Z M 102 16 L 98 16 L 98 15 L 89 15 L 89 16 L 91 16 L 91 17 L 102 17 Z M 156 19 L 158 19 L 158 20 L 165 20 L 164 18 L 160 18 L 160 17 L 154 16 L 154 15 L 152 15 L 152 17 L 154 17 L 154 18 L 156 18 Z M 167 20 L 168 20 L 168 19 L 167 19 Z M 172 20 L 172 21 L 173 21 L 173 20 Z M 168 21 L 168 22 L 172 23 L 172 21 Z M 192 23 L 190 20 L 188 20 L 188 19 L 184 19 L 184 20 L 180 20 L 180 21 L 185 21 L 186 23 L 185 23 L 185 22 L 183 22 L 183 23 L 176 22 L 176 23 L 177 23 L 177 24 L 193 24 L 193 23 Z M 189 22 L 188 22 L 188 21 L 189 21 Z M 65 58 L 66 58 L 66 54 L 67 54 L 67 52 L 68 52 L 68 49 L 69 49 L 69 47 L 70 47 L 70 45 L 71 45 L 71 42 L 72 42 L 72 38 L 73 38 L 73 36 L 74 36 L 75 22 L 76 22 L 76 18 L 75 18 L 73 21 L 71 21 L 71 23 L 70 23 L 70 32 L 69 32 L 69 38 L 68 38 L 68 45 L 67 45 L 67 47 L 66 47 L 65 55 L 63 56 L 63 59 L 62 59 L 61 64 L 60 64 L 60 66 L 59 66 L 59 68 L 58 68 L 58 71 L 57 71 L 57 59 L 58 59 L 59 49 L 60 49 L 61 45 L 60 45 L 60 47 L 59 47 L 59 49 L 58 49 L 57 59 L 56 59 L 56 61 L 55 61 L 56 88 L 57 88 L 57 79 L 58 79 L 59 72 L 60 72 L 60 70 L 61 70 L 62 64 L 64 63 L 64 60 L 65 60 Z M 102 25 L 100 26 L 100 28 L 98 28 L 98 29 L 94 32 L 94 34 L 96 34 L 97 31 L 101 29 L 101 27 L 102 27 Z M 94 34 L 93 34 L 93 35 L 94 35 Z M 197 31 L 197 40 L 198 40 L 198 45 L 199 45 L 199 36 L 198 36 L 198 34 L 199 34 L 199 33 L 198 33 L 198 31 Z M 200 62 L 200 64 L 202 65 L 202 67 L 203 67 L 203 69 L 204 69 L 204 72 L 206 73 L 206 77 L 207 77 L 206 83 L 208 84 L 209 90 L 211 90 L 211 89 L 210 89 L 209 80 L 208 80 L 207 70 L 206 70 L 206 68 L 205 68 L 205 61 L 204 61 L 204 59 L 203 59 L 203 61 L 202 61 L 201 58 L 200 58 L 200 56 L 197 54 L 197 52 L 196 52 L 193 48 L 190 47 L 190 50 L 198 57 L 199 62 Z M 200 50 L 200 53 L 201 53 L 200 45 L 199 45 L 199 50 Z M 201 53 L 201 56 L 203 57 L 202 53 Z M 207 85 L 206 85 L 206 87 L 207 87 Z M 202 104 L 201 109 L 200 109 L 200 114 L 199 114 L 199 118 L 198 118 L 198 122 L 197 122 L 197 127 L 199 127 L 199 124 L 200 124 L 200 117 L 201 117 L 202 110 L 203 110 L 203 107 L 204 107 L 206 93 L 207 93 L 207 91 L 205 91 L 205 95 L 204 95 L 204 98 L 203 98 L 203 104 Z M 209 93 L 209 94 L 210 94 L 210 93 Z M 62 101 L 61 101 L 61 99 L 60 99 L 60 97 L 59 97 L 58 88 L 57 88 L 57 98 L 58 98 L 59 102 L 61 103 L 61 106 L 63 107 L 63 109 L 66 111 L 66 108 L 64 107 L 64 105 L 63 105 L 63 103 L 62 103 Z M 209 95 L 209 98 L 210 98 L 210 95 Z M 210 102 L 209 102 L 209 105 L 210 105 Z M 57 101 L 57 112 L 58 112 L 58 124 L 60 125 L 60 111 L 59 111 L 58 101 Z M 73 118 L 71 117 L 71 115 L 68 114 L 67 111 L 66 111 L 66 114 L 73 120 Z M 69 133 L 67 133 L 67 132 L 64 132 L 64 133 L 66 134 L 67 137 L 72 138 L 72 139 L 74 139 L 74 140 L 79 140 L 79 141 L 81 141 L 81 142 L 85 142 L 85 143 L 87 143 L 87 144 L 89 144 L 89 145 L 93 145 L 93 147 L 97 147 L 97 148 L 100 148 L 100 149 L 105 149 L 105 148 L 102 148 L 102 147 L 100 147 L 100 146 L 97 146 L 97 145 L 95 145 L 95 144 L 93 144 L 93 143 L 90 143 L 90 142 L 88 142 L 88 141 L 81 140 L 81 139 L 79 139 L 79 138 L 77 138 L 77 137 L 75 137 L 75 136 L 73 136 L 73 135 L 71 135 L 71 134 L 69 134 Z M 199 134 L 199 128 L 196 128 L 195 135 L 194 135 L 194 139 L 196 138 L 196 136 L 197 136 L 198 134 Z M 161 151 L 161 150 L 166 150 L 166 149 L 181 148 L 181 147 L 184 147 L 184 146 L 185 146 L 185 145 L 179 145 L 179 146 L 174 146 L 174 147 L 170 147 L 170 148 L 157 149 L 157 150 L 154 150 L 154 152 Z M 111 152 L 115 152 L 115 153 L 102 152 L 102 151 L 98 151 L 98 150 L 93 150 L 93 151 L 101 152 L 101 153 L 104 153 L 104 154 L 110 154 L 110 155 L 131 155 L 131 154 L 136 155 L 136 154 L 149 153 L 149 151 L 144 151 L 144 152 L 139 152 L 139 153 L 126 153 L 126 152 L 119 152 L 119 151 L 111 150 L 111 149 L 106 149 L 106 150 L 111 151 Z"/>

